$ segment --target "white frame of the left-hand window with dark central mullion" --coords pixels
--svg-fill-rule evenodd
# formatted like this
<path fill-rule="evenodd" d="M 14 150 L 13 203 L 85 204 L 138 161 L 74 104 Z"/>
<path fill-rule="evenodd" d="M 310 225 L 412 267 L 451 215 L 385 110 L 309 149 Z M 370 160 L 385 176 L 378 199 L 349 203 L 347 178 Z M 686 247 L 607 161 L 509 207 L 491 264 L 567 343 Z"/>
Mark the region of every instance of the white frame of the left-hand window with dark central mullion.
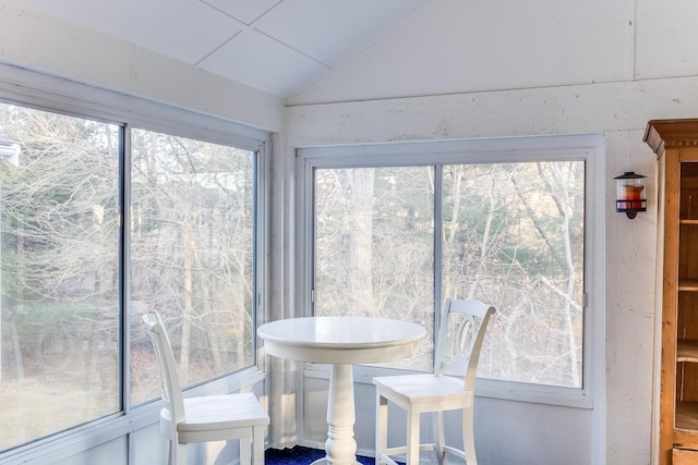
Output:
<path fill-rule="evenodd" d="M 215 144 L 230 145 L 237 148 L 256 152 L 256 171 L 254 173 L 255 215 L 253 248 L 254 248 L 254 280 L 255 304 L 253 311 L 253 328 L 264 319 L 268 295 L 268 224 L 269 224 L 269 173 L 270 173 L 270 134 L 267 131 L 246 126 L 222 118 L 204 114 L 155 100 L 133 95 L 113 91 L 84 83 L 67 79 L 60 76 L 27 70 L 9 63 L 0 63 L 0 101 L 35 108 L 55 113 L 76 118 L 86 118 L 120 126 L 122 145 L 125 157 L 120 154 L 120 182 L 124 196 L 123 205 L 129 205 L 129 170 L 130 159 L 128 146 L 130 144 L 130 127 L 139 127 L 156 132 L 173 134 L 181 137 L 194 138 Z M 122 222 L 128 224 L 129 208 L 122 212 Z M 51 457 L 60 461 L 74 456 L 97 444 L 123 437 L 131 441 L 131 436 L 141 428 L 157 421 L 159 404 L 156 399 L 132 406 L 130 401 L 130 355 L 129 327 L 130 311 L 125 310 L 129 302 L 130 283 L 129 235 L 124 234 L 121 246 L 123 262 L 119 270 L 121 284 L 120 299 L 120 403 L 119 412 L 101 418 L 89 420 L 83 425 L 57 431 L 48 437 L 31 441 L 26 444 L 0 453 L 0 463 L 41 461 Z M 127 281 L 123 281 L 127 280 Z M 226 376 L 205 381 L 188 389 L 191 395 L 206 395 L 212 393 L 234 392 L 250 387 L 265 379 L 264 360 L 258 356 L 258 341 L 253 331 L 252 365 L 248 368 Z M 131 457 L 133 458 L 133 457 Z"/>

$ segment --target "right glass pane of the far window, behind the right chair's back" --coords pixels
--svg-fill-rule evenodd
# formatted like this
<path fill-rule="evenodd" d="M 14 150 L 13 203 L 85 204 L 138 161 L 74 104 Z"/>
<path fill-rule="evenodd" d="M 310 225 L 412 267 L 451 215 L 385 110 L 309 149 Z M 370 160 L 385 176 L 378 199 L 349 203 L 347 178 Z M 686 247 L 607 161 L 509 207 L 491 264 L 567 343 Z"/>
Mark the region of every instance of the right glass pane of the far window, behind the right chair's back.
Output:
<path fill-rule="evenodd" d="M 479 376 L 580 388 L 583 161 L 444 169 L 444 296 L 491 303 Z"/>

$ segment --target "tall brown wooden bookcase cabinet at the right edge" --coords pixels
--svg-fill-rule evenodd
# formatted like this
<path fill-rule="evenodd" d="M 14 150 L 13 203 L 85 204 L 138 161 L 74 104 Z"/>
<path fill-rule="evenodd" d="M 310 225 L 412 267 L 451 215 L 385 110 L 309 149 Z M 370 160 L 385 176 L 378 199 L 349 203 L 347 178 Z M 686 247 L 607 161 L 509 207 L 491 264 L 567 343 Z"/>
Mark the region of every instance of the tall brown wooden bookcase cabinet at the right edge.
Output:
<path fill-rule="evenodd" d="M 698 465 L 698 119 L 650 121 L 659 160 L 659 463 Z"/>

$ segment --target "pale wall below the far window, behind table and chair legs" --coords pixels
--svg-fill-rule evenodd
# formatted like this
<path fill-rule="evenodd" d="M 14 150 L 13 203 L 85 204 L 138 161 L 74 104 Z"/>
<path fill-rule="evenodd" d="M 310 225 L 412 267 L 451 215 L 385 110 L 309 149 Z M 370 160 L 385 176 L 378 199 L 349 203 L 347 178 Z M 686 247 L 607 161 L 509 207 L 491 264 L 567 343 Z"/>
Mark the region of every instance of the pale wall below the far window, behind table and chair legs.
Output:
<path fill-rule="evenodd" d="M 354 384 L 358 413 L 354 424 L 357 453 L 373 456 L 375 388 L 370 380 L 354 378 Z M 327 379 L 306 377 L 303 384 L 301 415 L 303 445 L 324 448 L 327 439 L 325 405 L 327 405 Z M 591 414 L 587 409 L 486 397 L 478 397 L 474 405 L 476 449 L 478 462 L 481 464 L 588 465 L 598 463 L 592 458 Z M 459 413 L 446 413 L 445 418 L 448 425 L 446 441 L 449 444 L 461 444 Z M 430 416 L 423 416 L 422 438 L 429 438 L 433 433 L 431 420 Z M 389 444 L 405 443 L 406 423 L 404 411 L 389 409 Z M 570 433 L 573 431 L 574 435 Z M 642 462 L 613 463 L 640 464 Z"/>

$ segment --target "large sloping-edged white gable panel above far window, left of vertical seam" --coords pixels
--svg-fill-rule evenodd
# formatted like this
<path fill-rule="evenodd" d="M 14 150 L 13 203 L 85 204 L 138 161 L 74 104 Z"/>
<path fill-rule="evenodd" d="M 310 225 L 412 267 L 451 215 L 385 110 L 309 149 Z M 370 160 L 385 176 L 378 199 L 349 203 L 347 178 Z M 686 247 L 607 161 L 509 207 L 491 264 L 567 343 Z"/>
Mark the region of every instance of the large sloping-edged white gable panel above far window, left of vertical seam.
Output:
<path fill-rule="evenodd" d="M 631 0 L 435 0 L 288 102 L 628 79 L 633 20 Z"/>

